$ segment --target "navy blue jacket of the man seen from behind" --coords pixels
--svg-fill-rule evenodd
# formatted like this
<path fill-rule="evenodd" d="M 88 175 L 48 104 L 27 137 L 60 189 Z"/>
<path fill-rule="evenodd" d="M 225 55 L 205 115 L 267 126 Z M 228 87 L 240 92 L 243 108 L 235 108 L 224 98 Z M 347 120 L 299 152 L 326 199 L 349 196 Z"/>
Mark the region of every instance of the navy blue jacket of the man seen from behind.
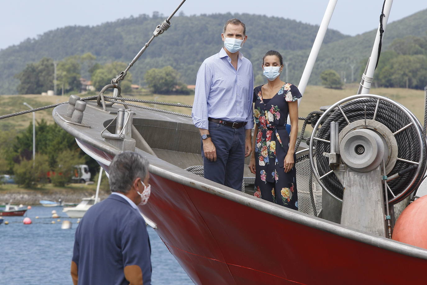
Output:
<path fill-rule="evenodd" d="M 129 284 L 124 268 L 137 265 L 150 285 L 150 255 L 145 220 L 118 195 L 89 208 L 77 226 L 72 261 L 79 284 Z"/>

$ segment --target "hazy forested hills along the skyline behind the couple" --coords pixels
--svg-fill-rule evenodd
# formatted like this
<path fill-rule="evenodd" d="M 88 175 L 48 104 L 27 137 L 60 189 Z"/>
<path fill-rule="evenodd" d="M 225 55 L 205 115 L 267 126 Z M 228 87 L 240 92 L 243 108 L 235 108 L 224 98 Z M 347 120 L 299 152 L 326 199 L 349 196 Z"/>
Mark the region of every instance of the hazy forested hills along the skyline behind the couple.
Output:
<path fill-rule="evenodd" d="M 240 18 L 246 24 L 248 40 L 241 51 L 253 63 L 255 76 L 262 73 L 260 65 L 263 54 L 275 49 L 282 53 L 285 62 L 289 62 L 289 81 L 298 84 L 319 27 L 278 17 L 230 13 L 180 14 L 174 17 L 170 29 L 155 38 L 131 68 L 133 83 L 144 85 L 146 71 L 170 65 L 181 74 L 182 82 L 194 84 L 202 61 L 222 47 L 222 25 L 230 18 Z M 0 94 L 16 94 L 19 80 L 15 75 L 23 71 L 27 64 L 39 62 L 43 57 L 61 61 L 70 56 L 91 53 L 100 64 L 127 64 L 163 20 L 162 15 L 154 13 L 152 16 L 140 15 L 98 26 L 67 26 L 0 50 L 0 73 L 3 74 Z M 347 82 L 350 82 L 351 66 L 354 67 L 354 81 L 358 81 L 360 62 L 371 52 L 375 28 L 354 37 L 328 30 L 309 83 L 319 84 L 319 74 L 325 69 L 345 74 Z M 426 30 L 425 10 L 390 23 L 384 33 L 383 49 L 386 50 L 395 38 L 424 36 Z M 111 74 L 111 78 L 116 75 Z M 88 74 L 82 73 L 82 76 Z"/>

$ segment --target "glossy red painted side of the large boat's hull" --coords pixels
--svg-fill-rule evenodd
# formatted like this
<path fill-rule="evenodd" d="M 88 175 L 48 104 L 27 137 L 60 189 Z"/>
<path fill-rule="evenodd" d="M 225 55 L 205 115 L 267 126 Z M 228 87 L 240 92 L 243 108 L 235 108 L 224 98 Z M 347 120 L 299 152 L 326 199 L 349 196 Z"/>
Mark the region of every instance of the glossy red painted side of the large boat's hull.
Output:
<path fill-rule="evenodd" d="M 196 284 L 424 283 L 416 273 L 427 268 L 425 259 L 314 229 L 154 174 L 150 184 L 150 200 L 141 212 L 157 225 L 158 235 Z"/>

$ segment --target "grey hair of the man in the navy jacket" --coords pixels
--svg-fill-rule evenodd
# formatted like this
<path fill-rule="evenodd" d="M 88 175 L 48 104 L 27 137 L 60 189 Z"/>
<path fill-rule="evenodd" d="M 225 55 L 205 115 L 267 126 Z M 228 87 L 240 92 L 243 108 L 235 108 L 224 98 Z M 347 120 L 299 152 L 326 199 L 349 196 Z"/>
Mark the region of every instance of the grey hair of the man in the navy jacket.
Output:
<path fill-rule="evenodd" d="M 148 160 L 132 151 L 124 151 L 115 156 L 108 170 L 111 192 L 127 194 L 135 179 L 139 177 L 144 180 L 148 165 Z"/>

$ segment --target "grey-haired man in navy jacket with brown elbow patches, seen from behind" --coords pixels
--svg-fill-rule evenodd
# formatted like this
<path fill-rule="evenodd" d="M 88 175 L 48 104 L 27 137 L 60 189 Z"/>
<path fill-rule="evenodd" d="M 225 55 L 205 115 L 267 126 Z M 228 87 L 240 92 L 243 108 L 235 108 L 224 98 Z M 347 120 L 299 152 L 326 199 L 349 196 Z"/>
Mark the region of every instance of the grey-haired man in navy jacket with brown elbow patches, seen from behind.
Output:
<path fill-rule="evenodd" d="M 108 173 L 112 194 L 91 206 L 76 229 L 73 283 L 150 285 L 150 241 L 137 207 L 150 195 L 148 161 L 126 151 Z"/>

